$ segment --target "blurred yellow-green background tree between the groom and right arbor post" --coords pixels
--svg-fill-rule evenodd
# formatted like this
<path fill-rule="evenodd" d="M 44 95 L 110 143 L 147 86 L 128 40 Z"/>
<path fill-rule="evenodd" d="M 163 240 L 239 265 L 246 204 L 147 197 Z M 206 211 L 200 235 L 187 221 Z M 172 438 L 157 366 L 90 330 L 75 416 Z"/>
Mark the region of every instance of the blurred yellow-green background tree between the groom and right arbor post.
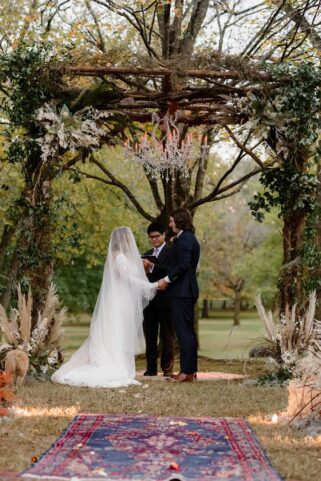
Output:
<path fill-rule="evenodd" d="M 211 209 L 204 207 L 196 216 L 202 243 L 201 294 L 207 299 L 231 298 L 235 324 L 241 300 L 253 305 L 253 298 L 261 292 L 265 302 L 275 302 L 281 265 L 280 222 L 275 213 L 264 226 L 251 219 L 247 199 L 253 187 Z"/>

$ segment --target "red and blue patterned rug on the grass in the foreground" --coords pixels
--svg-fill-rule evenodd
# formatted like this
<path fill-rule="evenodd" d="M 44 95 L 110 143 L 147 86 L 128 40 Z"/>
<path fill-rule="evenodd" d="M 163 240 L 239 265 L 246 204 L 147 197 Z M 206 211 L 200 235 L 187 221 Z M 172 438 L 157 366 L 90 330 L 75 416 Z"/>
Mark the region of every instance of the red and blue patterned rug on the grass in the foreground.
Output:
<path fill-rule="evenodd" d="M 90 481 L 280 481 L 241 418 L 76 416 L 25 477 Z"/>

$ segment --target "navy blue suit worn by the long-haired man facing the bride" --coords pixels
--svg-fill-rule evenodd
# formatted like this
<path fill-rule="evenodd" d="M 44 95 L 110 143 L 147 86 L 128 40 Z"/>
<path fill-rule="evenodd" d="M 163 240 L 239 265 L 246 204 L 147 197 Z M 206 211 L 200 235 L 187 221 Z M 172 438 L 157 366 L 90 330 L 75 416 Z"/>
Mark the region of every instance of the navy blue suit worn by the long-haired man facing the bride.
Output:
<path fill-rule="evenodd" d="M 197 338 L 194 331 L 194 308 L 199 295 L 196 269 L 200 245 L 192 231 L 183 231 L 173 242 L 166 291 L 172 320 L 180 347 L 180 366 L 184 374 L 197 372 Z"/>

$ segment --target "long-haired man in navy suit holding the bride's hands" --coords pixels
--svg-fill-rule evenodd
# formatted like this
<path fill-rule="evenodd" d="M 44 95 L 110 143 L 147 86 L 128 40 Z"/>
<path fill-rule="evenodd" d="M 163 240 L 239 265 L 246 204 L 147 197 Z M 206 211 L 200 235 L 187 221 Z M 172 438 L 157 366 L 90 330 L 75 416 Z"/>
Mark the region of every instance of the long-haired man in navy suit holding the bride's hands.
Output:
<path fill-rule="evenodd" d="M 197 338 L 194 331 L 194 308 L 199 290 L 196 269 L 200 246 L 189 210 L 178 208 L 170 216 L 169 227 L 176 236 L 169 256 L 168 274 L 158 282 L 167 289 L 172 320 L 180 348 L 180 373 L 172 376 L 177 382 L 191 382 L 197 372 Z"/>

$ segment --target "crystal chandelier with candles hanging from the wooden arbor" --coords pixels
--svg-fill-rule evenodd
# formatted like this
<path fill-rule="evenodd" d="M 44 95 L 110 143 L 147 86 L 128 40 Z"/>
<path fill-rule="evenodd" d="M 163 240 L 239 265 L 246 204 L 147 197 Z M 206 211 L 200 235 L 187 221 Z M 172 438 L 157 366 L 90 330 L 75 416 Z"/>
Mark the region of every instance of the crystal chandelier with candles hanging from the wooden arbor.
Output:
<path fill-rule="evenodd" d="M 145 132 L 139 142 L 125 142 L 126 159 L 143 165 L 145 171 L 154 178 L 160 175 L 168 181 L 178 171 L 188 177 L 189 161 L 194 154 L 192 135 L 188 133 L 181 140 L 176 121 L 177 114 L 172 116 L 167 112 L 161 118 L 153 112 L 154 127 L 151 134 Z M 202 146 L 202 154 L 205 154 L 206 149 L 207 138 Z"/>

